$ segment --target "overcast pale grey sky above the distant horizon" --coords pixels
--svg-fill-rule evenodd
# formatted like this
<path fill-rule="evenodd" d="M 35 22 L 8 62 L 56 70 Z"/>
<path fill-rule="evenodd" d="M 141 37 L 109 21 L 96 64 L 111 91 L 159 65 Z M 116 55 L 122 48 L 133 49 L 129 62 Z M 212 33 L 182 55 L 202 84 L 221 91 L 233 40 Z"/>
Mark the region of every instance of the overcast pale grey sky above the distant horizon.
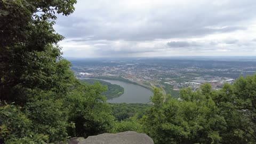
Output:
<path fill-rule="evenodd" d="M 63 57 L 256 56 L 255 0 L 78 0 Z"/>

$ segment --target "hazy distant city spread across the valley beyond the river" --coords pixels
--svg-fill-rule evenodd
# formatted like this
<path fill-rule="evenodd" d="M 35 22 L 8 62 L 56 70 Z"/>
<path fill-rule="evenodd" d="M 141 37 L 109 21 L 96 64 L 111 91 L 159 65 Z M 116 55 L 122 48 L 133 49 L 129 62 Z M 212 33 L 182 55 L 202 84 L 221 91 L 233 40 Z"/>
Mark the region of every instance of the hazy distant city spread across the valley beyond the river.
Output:
<path fill-rule="evenodd" d="M 173 59 L 87 59 L 70 60 L 77 77 L 122 77 L 145 87 L 162 87 L 177 97 L 183 87 L 199 89 L 210 83 L 218 90 L 223 83 L 232 84 L 239 76 L 253 75 L 256 60 L 237 58 L 173 58 Z"/>

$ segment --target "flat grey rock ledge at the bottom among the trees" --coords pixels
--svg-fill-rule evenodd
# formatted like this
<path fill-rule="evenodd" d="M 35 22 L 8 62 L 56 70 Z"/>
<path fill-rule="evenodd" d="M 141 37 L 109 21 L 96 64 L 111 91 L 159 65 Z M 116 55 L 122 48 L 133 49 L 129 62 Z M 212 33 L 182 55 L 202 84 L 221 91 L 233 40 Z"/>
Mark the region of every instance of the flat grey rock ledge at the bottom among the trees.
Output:
<path fill-rule="evenodd" d="M 154 144 L 147 134 L 126 131 L 120 133 L 103 133 L 84 138 L 71 138 L 69 144 Z"/>

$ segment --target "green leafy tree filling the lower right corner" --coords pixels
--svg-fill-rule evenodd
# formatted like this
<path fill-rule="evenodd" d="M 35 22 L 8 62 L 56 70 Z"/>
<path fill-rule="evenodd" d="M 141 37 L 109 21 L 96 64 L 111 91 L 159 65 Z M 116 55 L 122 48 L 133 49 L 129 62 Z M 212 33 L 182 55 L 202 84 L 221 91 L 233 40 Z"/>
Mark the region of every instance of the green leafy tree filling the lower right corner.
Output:
<path fill-rule="evenodd" d="M 239 77 L 233 85 L 226 83 L 213 97 L 227 123 L 221 132 L 222 143 L 256 142 L 255 77 Z"/>

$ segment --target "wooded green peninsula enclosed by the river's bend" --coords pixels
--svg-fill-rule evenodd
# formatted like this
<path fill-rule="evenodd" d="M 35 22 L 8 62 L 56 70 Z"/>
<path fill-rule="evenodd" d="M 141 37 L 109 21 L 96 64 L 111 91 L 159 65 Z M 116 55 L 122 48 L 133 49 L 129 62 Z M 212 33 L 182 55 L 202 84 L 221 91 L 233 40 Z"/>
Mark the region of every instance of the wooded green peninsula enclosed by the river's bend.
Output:
<path fill-rule="evenodd" d="M 99 79 L 83 79 L 80 80 L 81 82 L 86 82 L 88 84 L 94 84 L 95 82 L 100 82 L 102 85 L 107 86 L 107 91 L 102 92 L 102 95 L 104 95 L 107 99 L 112 99 L 119 97 L 124 93 L 124 88 L 120 85 L 111 84 L 109 82 L 101 81 Z"/>

